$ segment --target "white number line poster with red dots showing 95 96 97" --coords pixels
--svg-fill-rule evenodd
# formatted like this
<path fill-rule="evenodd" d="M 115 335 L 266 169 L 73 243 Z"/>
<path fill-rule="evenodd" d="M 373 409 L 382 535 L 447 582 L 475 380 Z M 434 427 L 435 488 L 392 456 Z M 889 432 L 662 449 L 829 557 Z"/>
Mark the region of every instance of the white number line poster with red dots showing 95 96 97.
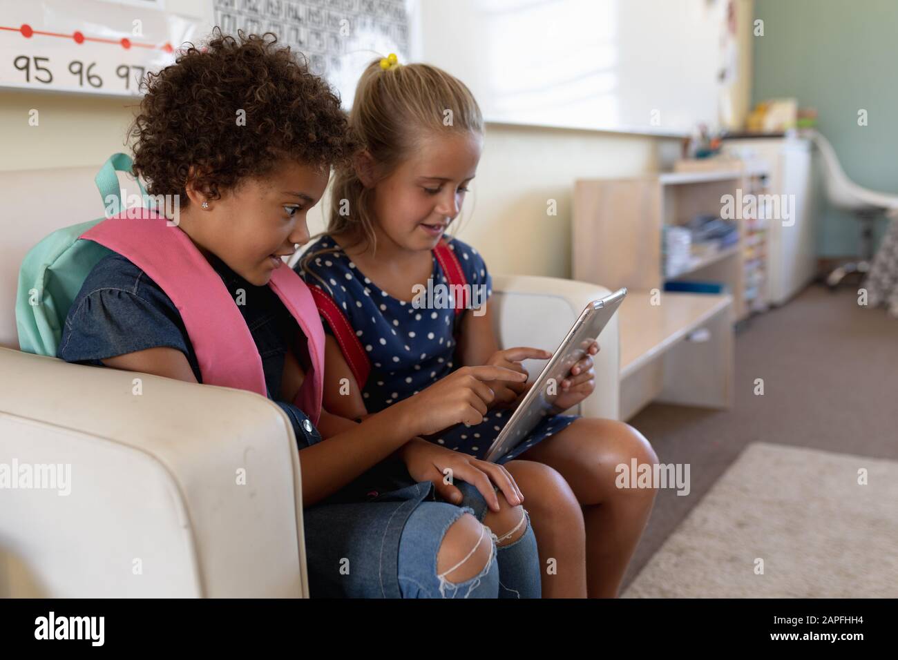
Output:
<path fill-rule="evenodd" d="M 164 0 L 0 0 L 0 88 L 139 95 L 147 71 L 205 37 Z"/>

